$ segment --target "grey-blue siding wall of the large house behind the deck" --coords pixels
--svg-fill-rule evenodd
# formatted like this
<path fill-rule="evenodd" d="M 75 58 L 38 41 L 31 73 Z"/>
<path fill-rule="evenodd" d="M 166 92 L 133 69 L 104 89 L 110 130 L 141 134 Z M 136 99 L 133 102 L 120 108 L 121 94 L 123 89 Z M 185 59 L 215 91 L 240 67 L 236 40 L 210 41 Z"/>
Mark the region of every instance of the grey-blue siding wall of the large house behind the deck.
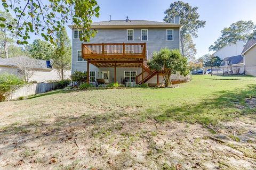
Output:
<path fill-rule="evenodd" d="M 146 28 L 143 28 L 146 29 Z M 133 41 L 127 41 L 126 31 L 124 28 L 113 29 L 98 29 L 98 33 L 95 37 L 90 39 L 90 43 L 146 43 L 146 50 L 148 59 L 153 56 L 154 51 L 159 51 L 161 48 L 179 49 L 180 48 L 180 31 L 179 28 L 173 29 L 173 41 L 166 40 L 166 28 L 148 28 L 148 40 L 141 41 L 141 29 L 134 28 Z M 77 51 L 82 48 L 82 41 L 74 39 L 74 31 L 72 31 L 72 70 L 74 71 L 86 71 L 87 63 L 77 62 Z M 110 71 L 110 82 L 113 81 L 114 68 L 97 68 L 90 64 L 90 71 L 96 72 L 96 79 L 102 78 L 102 71 Z M 117 68 L 116 80 L 121 83 L 121 79 L 124 78 L 124 71 L 137 71 L 137 75 L 141 73 L 141 68 Z"/>

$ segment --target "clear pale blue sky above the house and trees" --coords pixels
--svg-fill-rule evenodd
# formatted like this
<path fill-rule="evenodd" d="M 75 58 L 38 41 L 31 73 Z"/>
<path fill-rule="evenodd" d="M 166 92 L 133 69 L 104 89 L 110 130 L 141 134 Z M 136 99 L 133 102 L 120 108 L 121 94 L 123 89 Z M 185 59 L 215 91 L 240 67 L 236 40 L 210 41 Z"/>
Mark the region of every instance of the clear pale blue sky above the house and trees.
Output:
<path fill-rule="evenodd" d="M 93 21 L 131 20 L 163 21 L 164 11 L 174 1 L 166 0 L 97 0 L 100 6 L 99 18 Z M 190 0 L 183 2 L 198 7 L 201 20 L 206 21 L 204 28 L 199 29 L 198 38 L 194 39 L 197 48 L 196 57 L 209 53 L 208 48 L 220 36 L 224 27 L 239 20 L 252 20 L 256 23 L 256 0 Z M 70 29 L 68 29 L 71 35 Z M 70 36 L 71 38 L 71 36 Z M 212 52 L 210 52 L 212 53 Z"/>

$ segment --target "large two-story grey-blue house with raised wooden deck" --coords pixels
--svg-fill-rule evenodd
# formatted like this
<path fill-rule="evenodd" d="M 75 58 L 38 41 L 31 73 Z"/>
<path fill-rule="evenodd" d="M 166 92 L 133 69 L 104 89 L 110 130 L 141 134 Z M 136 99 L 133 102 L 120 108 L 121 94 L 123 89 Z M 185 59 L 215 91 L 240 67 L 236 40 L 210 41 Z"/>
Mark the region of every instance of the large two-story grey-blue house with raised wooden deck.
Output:
<path fill-rule="evenodd" d="M 80 41 L 80 32 L 69 25 L 73 30 L 71 71 L 89 72 L 90 82 L 162 82 L 160 74 L 149 72 L 146 61 L 161 48 L 180 48 L 179 20 L 176 16 L 173 23 L 128 19 L 93 22 L 91 29 L 98 33 L 89 43 Z"/>

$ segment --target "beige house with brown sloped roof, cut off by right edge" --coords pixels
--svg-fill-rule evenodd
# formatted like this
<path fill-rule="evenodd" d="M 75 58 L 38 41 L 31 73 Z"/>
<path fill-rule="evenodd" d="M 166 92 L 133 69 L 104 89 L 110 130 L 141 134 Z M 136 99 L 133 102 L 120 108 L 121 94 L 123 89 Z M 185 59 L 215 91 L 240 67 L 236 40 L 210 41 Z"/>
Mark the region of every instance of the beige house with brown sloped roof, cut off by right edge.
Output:
<path fill-rule="evenodd" d="M 245 74 L 256 76 L 256 38 L 247 41 L 242 55 L 244 56 Z"/>

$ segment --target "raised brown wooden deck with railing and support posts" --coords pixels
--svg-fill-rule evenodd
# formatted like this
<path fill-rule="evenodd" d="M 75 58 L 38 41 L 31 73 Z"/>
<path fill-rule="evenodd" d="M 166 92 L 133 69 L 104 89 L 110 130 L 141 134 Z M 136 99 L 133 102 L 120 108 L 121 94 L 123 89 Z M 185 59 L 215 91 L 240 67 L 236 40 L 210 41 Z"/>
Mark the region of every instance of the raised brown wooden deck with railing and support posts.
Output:
<path fill-rule="evenodd" d="M 97 67 L 114 67 L 114 82 L 116 82 L 117 67 L 141 67 L 142 73 L 144 72 L 146 43 L 82 44 L 82 57 L 87 61 L 87 73 L 89 73 L 89 64 Z M 143 74 L 141 80 L 143 82 Z M 89 74 L 87 74 L 87 83 L 89 83 Z"/>

